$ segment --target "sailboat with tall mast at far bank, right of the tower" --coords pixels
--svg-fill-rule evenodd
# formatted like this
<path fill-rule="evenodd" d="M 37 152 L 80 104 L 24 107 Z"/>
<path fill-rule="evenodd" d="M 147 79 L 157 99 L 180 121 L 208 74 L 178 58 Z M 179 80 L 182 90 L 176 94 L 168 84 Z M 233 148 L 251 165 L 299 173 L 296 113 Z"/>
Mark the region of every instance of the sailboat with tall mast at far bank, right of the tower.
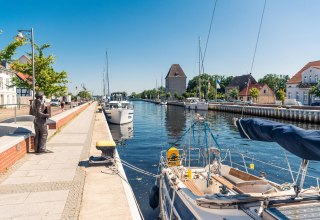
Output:
<path fill-rule="evenodd" d="M 185 108 L 188 110 L 204 110 L 209 109 L 209 103 L 201 100 L 201 47 L 200 47 L 200 37 L 199 37 L 199 98 L 189 97 L 184 103 Z"/>

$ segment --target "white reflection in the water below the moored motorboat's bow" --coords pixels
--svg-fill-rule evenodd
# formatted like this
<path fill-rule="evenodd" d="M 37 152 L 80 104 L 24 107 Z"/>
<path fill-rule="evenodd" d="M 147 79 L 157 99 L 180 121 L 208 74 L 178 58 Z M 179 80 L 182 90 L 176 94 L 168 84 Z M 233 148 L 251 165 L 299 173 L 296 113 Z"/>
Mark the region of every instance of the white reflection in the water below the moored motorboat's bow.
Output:
<path fill-rule="evenodd" d="M 123 125 L 109 124 L 109 128 L 113 140 L 118 145 L 125 145 L 126 140 L 133 138 L 133 122 Z"/>

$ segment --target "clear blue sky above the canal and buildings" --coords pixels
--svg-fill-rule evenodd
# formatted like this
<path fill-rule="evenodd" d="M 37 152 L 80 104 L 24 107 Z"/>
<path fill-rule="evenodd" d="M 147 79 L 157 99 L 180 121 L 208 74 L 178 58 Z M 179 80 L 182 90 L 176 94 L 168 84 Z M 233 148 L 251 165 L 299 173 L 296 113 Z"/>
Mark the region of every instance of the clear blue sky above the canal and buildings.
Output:
<path fill-rule="evenodd" d="M 172 64 L 188 80 L 198 75 L 198 38 L 204 50 L 215 0 L 0 0 L 0 49 L 19 29 L 34 28 L 37 44 L 50 44 L 56 71 L 68 73 L 69 92 L 81 85 L 103 93 L 142 92 L 164 86 Z M 219 0 L 204 71 L 250 73 L 264 0 Z M 293 76 L 320 60 L 319 0 L 267 0 L 253 77 Z M 30 45 L 14 58 L 30 52 Z M 77 88 L 77 90 L 76 90 Z"/>

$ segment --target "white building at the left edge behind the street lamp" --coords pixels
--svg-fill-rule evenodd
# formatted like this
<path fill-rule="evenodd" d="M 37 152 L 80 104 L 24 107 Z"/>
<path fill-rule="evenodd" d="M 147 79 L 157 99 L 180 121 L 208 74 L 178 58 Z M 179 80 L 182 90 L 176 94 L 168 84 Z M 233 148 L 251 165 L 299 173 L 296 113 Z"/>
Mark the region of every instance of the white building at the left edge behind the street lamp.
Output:
<path fill-rule="evenodd" d="M 9 87 L 14 72 L 0 65 L 0 105 L 2 108 L 12 108 L 17 104 L 16 87 Z"/>

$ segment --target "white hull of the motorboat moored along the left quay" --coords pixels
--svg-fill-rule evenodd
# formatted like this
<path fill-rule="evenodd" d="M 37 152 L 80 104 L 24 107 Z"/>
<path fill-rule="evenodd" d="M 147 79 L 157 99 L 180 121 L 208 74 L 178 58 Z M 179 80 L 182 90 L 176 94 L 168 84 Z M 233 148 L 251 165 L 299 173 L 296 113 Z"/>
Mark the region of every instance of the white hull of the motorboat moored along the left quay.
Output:
<path fill-rule="evenodd" d="M 112 124 L 127 124 L 133 121 L 133 109 L 108 109 L 106 110 L 107 121 Z"/>

